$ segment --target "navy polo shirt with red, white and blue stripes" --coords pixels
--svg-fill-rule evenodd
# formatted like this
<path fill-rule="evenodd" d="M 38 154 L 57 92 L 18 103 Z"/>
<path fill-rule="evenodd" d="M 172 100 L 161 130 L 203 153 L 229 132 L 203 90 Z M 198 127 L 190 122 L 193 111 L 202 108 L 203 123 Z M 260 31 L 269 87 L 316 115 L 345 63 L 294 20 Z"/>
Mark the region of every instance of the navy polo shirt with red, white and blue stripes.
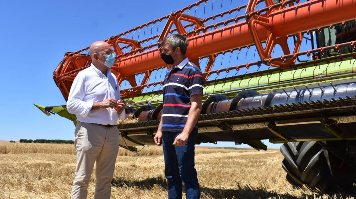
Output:
<path fill-rule="evenodd" d="M 203 76 L 188 58 L 172 68 L 163 82 L 162 131 L 182 132 L 191 106 L 190 96 L 203 95 Z"/>

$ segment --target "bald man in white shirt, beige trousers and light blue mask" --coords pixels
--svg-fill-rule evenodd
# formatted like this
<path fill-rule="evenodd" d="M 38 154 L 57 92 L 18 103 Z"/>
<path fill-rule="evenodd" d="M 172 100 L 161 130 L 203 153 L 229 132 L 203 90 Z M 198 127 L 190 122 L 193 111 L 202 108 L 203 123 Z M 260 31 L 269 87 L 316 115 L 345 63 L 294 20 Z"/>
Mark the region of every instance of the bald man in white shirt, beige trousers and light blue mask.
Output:
<path fill-rule="evenodd" d="M 115 56 L 103 41 L 90 46 L 91 66 L 78 73 L 70 88 L 67 110 L 77 116 L 74 145 L 77 153 L 72 199 L 87 198 L 95 164 L 94 198 L 110 198 L 111 179 L 119 152 L 117 119 L 124 119 L 125 104 L 110 68 Z"/>

